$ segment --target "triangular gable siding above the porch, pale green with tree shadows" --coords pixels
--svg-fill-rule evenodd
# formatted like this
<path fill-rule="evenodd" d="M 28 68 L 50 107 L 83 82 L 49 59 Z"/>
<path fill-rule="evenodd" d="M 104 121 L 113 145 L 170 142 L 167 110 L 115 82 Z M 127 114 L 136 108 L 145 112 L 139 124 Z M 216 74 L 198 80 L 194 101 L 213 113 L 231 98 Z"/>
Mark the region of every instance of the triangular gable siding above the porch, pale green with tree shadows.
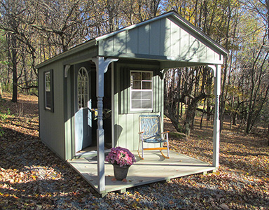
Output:
<path fill-rule="evenodd" d="M 99 55 L 102 56 L 222 63 L 219 52 L 212 42 L 174 16 L 153 20 L 99 40 Z"/>

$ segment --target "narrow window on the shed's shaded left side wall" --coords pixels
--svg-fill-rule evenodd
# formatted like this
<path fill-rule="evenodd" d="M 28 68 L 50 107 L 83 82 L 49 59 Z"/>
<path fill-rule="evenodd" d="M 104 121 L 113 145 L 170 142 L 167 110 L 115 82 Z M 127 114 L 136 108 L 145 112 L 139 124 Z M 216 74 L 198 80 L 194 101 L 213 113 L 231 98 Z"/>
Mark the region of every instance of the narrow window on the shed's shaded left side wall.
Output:
<path fill-rule="evenodd" d="M 53 70 L 45 71 L 45 109 L 53 112 Z"/>

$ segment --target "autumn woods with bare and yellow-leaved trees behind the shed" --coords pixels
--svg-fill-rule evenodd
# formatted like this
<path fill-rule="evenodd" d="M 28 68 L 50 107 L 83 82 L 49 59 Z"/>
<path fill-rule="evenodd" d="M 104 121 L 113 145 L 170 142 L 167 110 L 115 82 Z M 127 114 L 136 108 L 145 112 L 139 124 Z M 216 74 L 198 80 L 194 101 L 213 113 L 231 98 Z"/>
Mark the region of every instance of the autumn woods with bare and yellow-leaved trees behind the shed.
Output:
<path fill-rule="evenodd" d="M 0 87 L 37 94 L 35 65 L 60 52 L 161 13 L 175 10 L 221 43 L 229 56 L 221 73 L 220 118 L 247 133 L 269 123 L 268 0 L 4 0 L 0 2 Z M 206 66 L 169 69 L 165 114 L 181 132 L 195 113 L 214 113 L 214 76 Z M 179 119 L 184 123 L 179 124 Z M 222 125 L 222 124 L 221 124 Z"/>

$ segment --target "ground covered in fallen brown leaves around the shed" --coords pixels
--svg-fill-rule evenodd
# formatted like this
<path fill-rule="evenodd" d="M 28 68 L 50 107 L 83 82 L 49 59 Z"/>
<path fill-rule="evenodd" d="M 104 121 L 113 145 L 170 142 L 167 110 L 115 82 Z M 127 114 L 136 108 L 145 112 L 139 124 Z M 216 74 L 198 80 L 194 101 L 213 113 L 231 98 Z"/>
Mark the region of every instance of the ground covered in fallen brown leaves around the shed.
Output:
<path fill-rule="evenodd" d="M 109 193 L 90 185 L 39 139 L 37 97 L 0 99 L 0 209 L 268 209 L 269 147 L 265 131 L 221 132 L 220 167 L 198 174 Z M 188 139 L 171 133 L 171 149 L 212 163 L 212 125 L 197 120 Z"/>

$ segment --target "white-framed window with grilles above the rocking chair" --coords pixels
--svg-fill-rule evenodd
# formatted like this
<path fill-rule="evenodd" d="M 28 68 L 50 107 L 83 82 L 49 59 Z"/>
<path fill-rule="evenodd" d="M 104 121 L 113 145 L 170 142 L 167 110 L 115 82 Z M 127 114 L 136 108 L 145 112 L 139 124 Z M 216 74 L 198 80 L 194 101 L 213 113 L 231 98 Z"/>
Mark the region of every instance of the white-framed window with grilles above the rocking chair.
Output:
<path fill-rule="evenodd" d="M 152 110 L 151 71 L 131 71 L 131 111 Z"/>

